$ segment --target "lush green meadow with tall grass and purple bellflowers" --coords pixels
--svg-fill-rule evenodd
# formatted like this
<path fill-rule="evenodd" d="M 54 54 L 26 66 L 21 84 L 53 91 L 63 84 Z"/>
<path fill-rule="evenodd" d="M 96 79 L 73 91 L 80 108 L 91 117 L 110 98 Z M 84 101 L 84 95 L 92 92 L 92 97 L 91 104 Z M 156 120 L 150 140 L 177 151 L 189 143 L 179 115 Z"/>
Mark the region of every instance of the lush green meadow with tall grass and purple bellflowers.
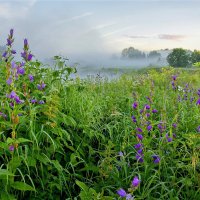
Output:
<path fill-rule="evenodd" d="M 0 199 L 200 199 L 200 70 L 71 79 L 13 30 L 0 63 Z"/>

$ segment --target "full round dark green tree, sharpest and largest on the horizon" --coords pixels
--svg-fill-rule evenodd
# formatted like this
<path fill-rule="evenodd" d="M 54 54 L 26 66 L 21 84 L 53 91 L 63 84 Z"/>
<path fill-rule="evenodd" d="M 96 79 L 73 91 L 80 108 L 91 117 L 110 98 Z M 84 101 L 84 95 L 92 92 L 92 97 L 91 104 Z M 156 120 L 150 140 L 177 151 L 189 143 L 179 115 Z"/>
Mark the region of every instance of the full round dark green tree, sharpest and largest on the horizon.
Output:
<path fill-rule="evenodd" d="M 167 56 L 167 62 L 172 67 L 188 67 L 190 65 L 190 53 L 186 49 L 175 48 Z"/>

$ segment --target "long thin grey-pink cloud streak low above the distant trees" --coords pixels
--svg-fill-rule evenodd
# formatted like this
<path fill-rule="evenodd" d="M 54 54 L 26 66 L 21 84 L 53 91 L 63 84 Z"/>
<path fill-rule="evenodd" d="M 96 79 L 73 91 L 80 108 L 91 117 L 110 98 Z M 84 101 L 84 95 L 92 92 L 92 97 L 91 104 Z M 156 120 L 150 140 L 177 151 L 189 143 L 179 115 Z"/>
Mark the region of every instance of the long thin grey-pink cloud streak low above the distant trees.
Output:
<path fill-rule="evenodd" d="M 134 38 L 134 39 L 161 39 L 161 40 L 173 40 L 173 41 L 179 41 L 181 39 L 186 38 L 186 35 L 172 35 L 172 34 L 159 34 L 159 35 L 131 35 L 131 36 L 125 36 L 128 38 Z"/>

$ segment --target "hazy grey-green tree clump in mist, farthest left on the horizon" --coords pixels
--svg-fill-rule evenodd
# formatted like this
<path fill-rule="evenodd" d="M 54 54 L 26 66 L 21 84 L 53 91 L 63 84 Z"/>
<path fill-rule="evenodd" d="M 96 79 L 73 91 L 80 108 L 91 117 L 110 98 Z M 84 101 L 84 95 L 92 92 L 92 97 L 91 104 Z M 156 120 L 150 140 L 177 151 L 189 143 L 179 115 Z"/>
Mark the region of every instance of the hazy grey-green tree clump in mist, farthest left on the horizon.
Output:
<path fill-rule="evenodd" d="M 141 59 L 146 57 L 144 52 L 135 49 L 133 47 L 123 49 L 121 56 L 122 58 L 129 58 L 129 59 Z"/>

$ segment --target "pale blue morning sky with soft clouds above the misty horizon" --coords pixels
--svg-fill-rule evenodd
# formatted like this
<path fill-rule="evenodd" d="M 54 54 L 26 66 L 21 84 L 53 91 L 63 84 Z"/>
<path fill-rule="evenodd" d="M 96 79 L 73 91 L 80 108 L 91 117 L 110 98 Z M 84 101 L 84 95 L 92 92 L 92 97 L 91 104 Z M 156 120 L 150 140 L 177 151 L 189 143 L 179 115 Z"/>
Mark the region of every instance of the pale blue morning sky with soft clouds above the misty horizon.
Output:
<path fill-rule="evenodd" d="M 38 59 L 200 49 L 200 0 L 0 0 L 0 45 L 14 28 Z"/>

